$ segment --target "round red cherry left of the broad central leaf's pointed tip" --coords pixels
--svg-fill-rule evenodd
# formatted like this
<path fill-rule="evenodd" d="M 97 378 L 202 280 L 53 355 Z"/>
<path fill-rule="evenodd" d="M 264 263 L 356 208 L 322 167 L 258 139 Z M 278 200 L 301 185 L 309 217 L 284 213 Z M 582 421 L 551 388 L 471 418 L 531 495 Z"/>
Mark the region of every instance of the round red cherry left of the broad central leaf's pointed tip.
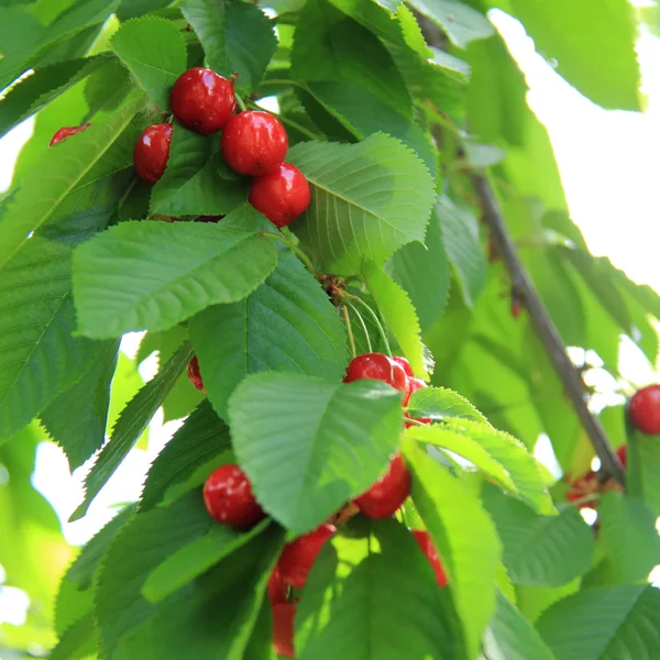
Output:
<path fill-rule="evenodd" d="M 252 527 L 265 516 L 252 494 L 250 480 L 233 463 L 220 465 L 207 479 L 204 502 L 218 522 L 232 527 Z"/>

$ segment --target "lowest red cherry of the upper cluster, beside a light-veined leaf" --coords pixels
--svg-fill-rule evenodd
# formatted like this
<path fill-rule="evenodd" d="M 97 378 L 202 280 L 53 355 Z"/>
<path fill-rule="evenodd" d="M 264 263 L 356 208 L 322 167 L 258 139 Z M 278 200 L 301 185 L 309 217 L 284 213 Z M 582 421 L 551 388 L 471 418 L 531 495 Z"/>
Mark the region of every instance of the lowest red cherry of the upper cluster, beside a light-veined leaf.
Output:
<path fill-rule="evenodd" d="M 286 227 L 309 206 L 309 184 L 290 163 L 283 163 L 253 179 L 250 204 L 276 227 Z"/>

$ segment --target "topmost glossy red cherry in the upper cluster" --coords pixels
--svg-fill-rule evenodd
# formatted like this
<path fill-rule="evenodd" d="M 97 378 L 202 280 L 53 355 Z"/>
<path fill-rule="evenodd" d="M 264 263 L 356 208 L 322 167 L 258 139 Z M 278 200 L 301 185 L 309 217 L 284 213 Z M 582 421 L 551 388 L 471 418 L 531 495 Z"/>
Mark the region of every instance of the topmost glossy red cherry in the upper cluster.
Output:
<path fill-rule="evenodd" d="M 169 107 L 177 120 L 202 135 L 219 131 L 230 120 L 235 105 L 232 84 L 201 66 L 182 74 L 169 95 Z"/>

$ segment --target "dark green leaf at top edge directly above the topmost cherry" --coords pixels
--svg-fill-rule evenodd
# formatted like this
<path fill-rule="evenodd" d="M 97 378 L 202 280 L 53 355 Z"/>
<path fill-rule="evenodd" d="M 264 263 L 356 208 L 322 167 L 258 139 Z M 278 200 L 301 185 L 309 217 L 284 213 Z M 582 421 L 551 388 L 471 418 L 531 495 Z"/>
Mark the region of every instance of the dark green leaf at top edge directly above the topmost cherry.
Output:
<path fill-rule="evenodd" d="M 255 6 L 231 0 L 184 0 L 182 12 L 197 33 L 209 66 L 239 74 L 240 92 L 252 91 L 277 48 L 271 20 Z"/>

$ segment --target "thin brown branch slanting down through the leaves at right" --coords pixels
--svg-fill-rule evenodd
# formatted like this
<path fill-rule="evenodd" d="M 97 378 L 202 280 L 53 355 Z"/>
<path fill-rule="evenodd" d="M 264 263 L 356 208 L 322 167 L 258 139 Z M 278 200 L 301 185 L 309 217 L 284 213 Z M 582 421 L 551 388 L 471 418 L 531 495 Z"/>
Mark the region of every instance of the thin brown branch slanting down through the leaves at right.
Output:
<path fill-rule="evenodd" d="M 569 359 L 559 332 L 541 302 L 534 284 L 531 283 L 518 251 L 508 233 L 499 205 L 491 188 L 491 184 L 483 176 L 474 176 L 474 187 L 481 199 L 484 217 L 491 229 L 491 235 L 502 256 L 512 279 L 512 286 L 524 300 L 529 316 L 539 333 L 548 358 L 554 371 L 561 378 L 564 389 L 573 404 L 573 408 L 588 436 L 591 443 L 601 459 L 603 471 L 615 479 L 619 484 L 626 484 L 624 468 L 616 458 L 601 422 L 590 411 L 584 398 L 584 388 L 578 370 Z"/>

